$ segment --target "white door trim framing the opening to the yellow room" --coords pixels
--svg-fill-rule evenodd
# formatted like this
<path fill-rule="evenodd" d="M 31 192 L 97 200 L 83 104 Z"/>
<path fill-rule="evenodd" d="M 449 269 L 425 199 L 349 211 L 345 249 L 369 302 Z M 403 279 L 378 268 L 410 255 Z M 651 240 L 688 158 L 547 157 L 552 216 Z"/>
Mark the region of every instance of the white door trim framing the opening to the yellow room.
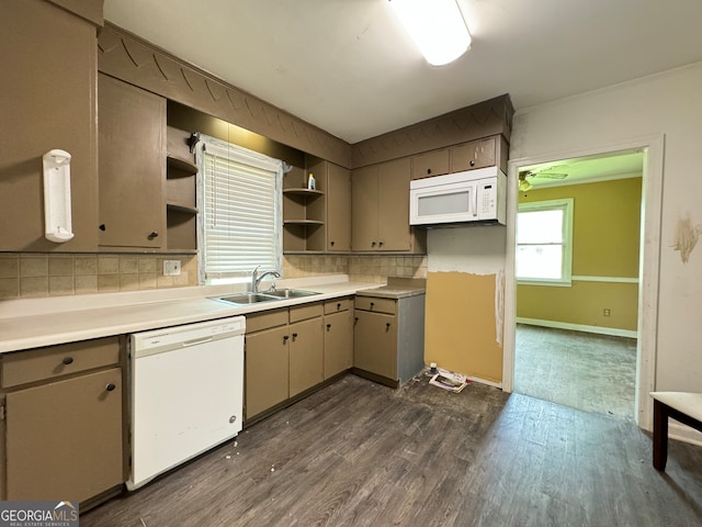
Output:
<path fill-rule="evenodd" d="M 655 389 L 658 333 L 658 282 L 660 258 L 660 212 L 663 204 L 665 135 L 649 135 L 601 145 L 588 149 L 569 149 L 548 155 L 511 159 L 508 162 L 507 247 L 505 261 L 505 344 L 502 361 L 502 390 L 514 386 L 514 347 L 517 329 L 517 280 L 514 278 L 516 221 L 519 168 L 540 162 L 613 154 L 619 150 L 646 152 L 642 177 L 642 236 L 639 246 L 638 323 L 636 343 L 636 389 L 634 418 L 646 430 L 653 425 L 653 401 L 648 395 Z"/>

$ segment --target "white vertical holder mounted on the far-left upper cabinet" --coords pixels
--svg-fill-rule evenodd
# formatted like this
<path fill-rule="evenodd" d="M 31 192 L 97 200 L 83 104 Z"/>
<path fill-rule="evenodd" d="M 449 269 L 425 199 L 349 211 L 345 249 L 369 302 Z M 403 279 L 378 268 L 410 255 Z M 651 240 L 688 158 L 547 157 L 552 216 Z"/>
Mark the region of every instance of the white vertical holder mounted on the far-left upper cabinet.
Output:
<path fill-rule="evenodd" d="M 64 244 L 73 237 L 70 214 L 70 154 L 54 149 L 44 154 L 44 236 Z"/>

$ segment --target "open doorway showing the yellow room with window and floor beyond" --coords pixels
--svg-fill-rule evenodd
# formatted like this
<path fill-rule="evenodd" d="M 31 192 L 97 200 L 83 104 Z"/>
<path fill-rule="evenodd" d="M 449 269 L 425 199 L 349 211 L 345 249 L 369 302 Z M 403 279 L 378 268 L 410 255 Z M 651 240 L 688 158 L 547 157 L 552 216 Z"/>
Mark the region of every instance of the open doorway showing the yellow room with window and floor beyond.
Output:
<path fill-rule="evenodd" d="M 633 419 L 644 153 L 520 169 L 514 391 Z"/>

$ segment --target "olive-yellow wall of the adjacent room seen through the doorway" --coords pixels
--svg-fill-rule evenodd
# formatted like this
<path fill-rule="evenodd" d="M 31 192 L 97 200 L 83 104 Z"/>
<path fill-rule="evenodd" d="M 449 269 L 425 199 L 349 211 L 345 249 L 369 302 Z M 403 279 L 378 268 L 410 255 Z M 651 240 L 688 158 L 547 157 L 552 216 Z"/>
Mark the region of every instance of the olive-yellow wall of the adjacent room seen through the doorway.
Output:
<path fill-rule="evenodd" d="M 641 178 L 552 187 L 520 193 L 519 202 L 573 198 L 573 276 L 636 278 Z M 610 310 L 610 316 L 603 310 Z M 577 281 L 571 287 L 518 284 L 517 316 L 635 330 L 638 284 Z"/>

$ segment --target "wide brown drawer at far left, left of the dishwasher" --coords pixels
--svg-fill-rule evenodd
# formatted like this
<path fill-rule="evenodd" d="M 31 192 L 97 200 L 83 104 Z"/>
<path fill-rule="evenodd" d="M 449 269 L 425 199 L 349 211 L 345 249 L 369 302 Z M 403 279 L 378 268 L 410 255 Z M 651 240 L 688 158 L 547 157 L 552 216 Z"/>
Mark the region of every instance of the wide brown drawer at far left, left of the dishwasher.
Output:
<path fill-rule="evenodd" d="M 80 371 L 117 365 L 118 338 L 107 337 L 80 343 L 60 344 L 29 351 L 3 354 L 2 388 L 55 379 Z"/>

